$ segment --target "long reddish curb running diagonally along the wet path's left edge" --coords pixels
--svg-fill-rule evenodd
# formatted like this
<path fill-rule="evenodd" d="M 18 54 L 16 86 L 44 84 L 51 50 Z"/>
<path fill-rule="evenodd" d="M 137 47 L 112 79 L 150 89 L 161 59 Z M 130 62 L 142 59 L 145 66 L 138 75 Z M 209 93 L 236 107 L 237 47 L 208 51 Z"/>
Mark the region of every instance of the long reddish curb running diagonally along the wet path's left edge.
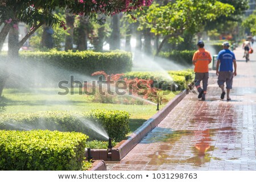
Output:
<path fill-rule="evenodd" d="M 112 161 L 119 161 L 123 159 L 128 152 L 130 152 L 141 140 L 150 133 L 164 118 L 179 104 L 181 100 L 188 94 L 188 90 L 183 90 L 173 100 L 171 100 L 167 106 L 156 113 L 152 118 L 148 119 L 139 127 L 134 133 L 132 133 L 127 140 L 122 140 L 112 149 Z"/>

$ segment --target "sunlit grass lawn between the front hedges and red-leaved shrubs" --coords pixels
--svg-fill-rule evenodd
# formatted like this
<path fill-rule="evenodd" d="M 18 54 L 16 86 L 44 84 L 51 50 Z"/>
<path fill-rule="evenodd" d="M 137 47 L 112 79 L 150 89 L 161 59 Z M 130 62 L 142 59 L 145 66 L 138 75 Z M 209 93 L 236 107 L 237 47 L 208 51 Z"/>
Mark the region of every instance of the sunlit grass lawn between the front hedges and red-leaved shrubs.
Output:
<path fill-rule="evenodd" d="M 33 113 L 37 111 L 89 111 L 92 109 L 124 110 L 130 115 L 130 132 L 135 131 L 147 119 L 152 117 L 156 111 L 156 105 L 125 105 L 125 104 L 103 104 L 92 103 L 90 98 L 79 95 L 75 90 L 74 95 L 60 96 L 62 91 L 53 88 L 37 89 L 4 89 L 4 102 L 7 105 L 5 113 Z M 166 98 L 171 100 L 175 94 L 171 93 Z M 160 109 L 164 105 L 160 105 Z"/>

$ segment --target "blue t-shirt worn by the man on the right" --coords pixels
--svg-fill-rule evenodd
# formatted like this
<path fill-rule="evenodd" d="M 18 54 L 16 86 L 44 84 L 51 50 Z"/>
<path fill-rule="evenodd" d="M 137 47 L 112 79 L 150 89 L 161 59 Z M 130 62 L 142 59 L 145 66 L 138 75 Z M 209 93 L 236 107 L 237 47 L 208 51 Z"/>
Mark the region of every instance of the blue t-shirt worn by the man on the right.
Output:
<path fill-rule="evenodd" d="M 223 49 L 218 53 L 217 60 L 220 60 L 220 72 L 233 72 L 233 60 L 236 60 L 234 52 Z"/>

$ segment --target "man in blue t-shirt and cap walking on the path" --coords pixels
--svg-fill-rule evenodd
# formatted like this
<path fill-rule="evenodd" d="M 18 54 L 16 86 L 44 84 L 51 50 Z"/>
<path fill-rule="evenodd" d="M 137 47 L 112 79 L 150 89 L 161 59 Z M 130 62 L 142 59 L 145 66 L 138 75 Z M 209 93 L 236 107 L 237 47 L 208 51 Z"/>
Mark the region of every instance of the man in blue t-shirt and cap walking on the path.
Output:
<path fill-rule="evenodd" d="M 229 50 L 229 42 L 224 42 L 222 46 L 224 49 L 218 53 L 217 57 L 216 75 L 218 76 L 218 86 L 222 89 L 221 99 L 224 99 L 226 94 L 224 90 L 224 83 L 226 82 L 226 100 L 230 101 L 229 93 L 232 89 L 233 77 L 237 76 L 237 63 L 234 53 Z"/>

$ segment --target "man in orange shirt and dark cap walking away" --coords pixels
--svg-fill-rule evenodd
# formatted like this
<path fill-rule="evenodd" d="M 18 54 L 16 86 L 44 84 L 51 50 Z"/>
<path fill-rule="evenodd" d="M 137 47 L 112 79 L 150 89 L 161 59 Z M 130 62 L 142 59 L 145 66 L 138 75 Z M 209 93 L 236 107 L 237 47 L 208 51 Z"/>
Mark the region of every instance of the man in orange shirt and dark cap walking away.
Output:
<path fill-rule="evenodd" d="M 208 64 L 212 61 L 210 52 L 204 49 L 204 42 L 199 40 L 197 43 L 199 48 L 193 56 L 193 65 L 195 65 L 195 86 L 199 92 L 198 98 L 205 101 L 205 95 L 207 94 L 207 85 L 209 78 Z M 200 82 L 203 80 L 203 89 L 201 88 Z"/>

